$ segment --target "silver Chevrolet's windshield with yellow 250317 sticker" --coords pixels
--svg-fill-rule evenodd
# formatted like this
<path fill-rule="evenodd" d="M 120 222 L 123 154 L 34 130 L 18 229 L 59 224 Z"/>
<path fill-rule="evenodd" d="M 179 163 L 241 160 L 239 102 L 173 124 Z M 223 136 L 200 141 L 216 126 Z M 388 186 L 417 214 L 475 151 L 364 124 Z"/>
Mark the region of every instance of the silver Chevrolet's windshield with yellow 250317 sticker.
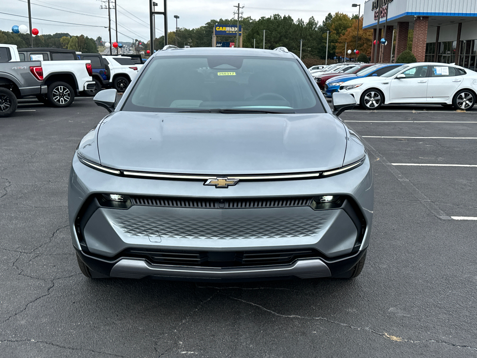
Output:
<path fill-rule="evenodd" d="M 251 56 L 153 57 L 123 110 L 273 110 L 323 113 L 297 60 Z"/>

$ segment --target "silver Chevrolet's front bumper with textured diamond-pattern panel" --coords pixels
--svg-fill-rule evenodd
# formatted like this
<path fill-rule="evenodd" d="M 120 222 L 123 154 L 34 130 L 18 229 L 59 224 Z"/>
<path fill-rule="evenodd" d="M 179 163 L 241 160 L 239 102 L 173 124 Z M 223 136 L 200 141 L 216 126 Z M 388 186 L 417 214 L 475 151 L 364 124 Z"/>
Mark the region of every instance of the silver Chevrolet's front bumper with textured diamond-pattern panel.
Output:
<path fill-rule="evenodd" d="M 341 195 L 348 199 L 343 200 L 341 207 L 318 211 L 309 206 L 230 210 L 137 203 L 128 208 L 112 208 L 97 200 L 98 193 L 122 193 L 131 198 L 172 197 L 184 201 L 187 198 L 223 198 L 221 200 L 227 201 L 230 198 L 315 195 Z M 325 277 L 330 274 L 320 260 L 329 267 L 329 262 L 354 257 L 368 245 L 373 217 L 373 180 L 370 162 L 366 158 L 360 167 L 329 178 L 241 182 L 226 190 L 218 190 L 204 186 L 202 182 L 115 177 L 83 165 L 74 156 L 68 201 L 73 245 L 91 270 L 105 275 L 120 273 L 123 276 L 117 277 L 125 277 L 125 271 L 135 274 L 137 269 L 141 277 L 255 279 L 275 277 L 277 273 L 280 277 L 304 277 L 301 271 L 304 266 L 296 263 L 314 259 L 311 266 L 315 269 L 312 271 L 318 275 L 314 277 Z M 344 201 L 349 205 L 353 203 L 354 209 L 346 209 Z M 363 221 L 362 230 L 358 230 L 353 211 Z M 194 266 L 199 269 L 193 268 L 193 273 L 188 273 L 189 269 L 184 272 L 179 268 L 188 266 L 187 262 L 173 263 L 172 269 L 169 267 L 171 263 L 167 262 L 168 267 L 163 269 L 159 267 L 163 265 L 162 261 L 155 261 L 147 255 L 144 257 L 144 254 L 131 255 L 131 249 L 181 251 L 199 256 L 207 253 L 209 259 L 211 253 L 227 255 L 232 252 L 233 257 L 242 257 L 243 253 L 251 251 L 309 249 L 313 254 L 296 256 L 285 263 L 267 261 L 260 264 L 259 269 L 240 266 L 241 263 L 232 257 L 235 263 L 220 263 L 220 267 L 213 269 L 213 264 L 200 263 L 202 266 Z M 98 263 L 102 264 L 98 266 Z M 118 266 L 113 270 L 116 264 Z M 234 265 L 240 267 L 232 267 Z M 264 269 L 270 265 L 273 270 Z M 280 272 L 275 270 L 277 265 L 282 266 Z M 329 270 L 333 274 L 330 267 Z M 214 276 L 213 272 L 224 274 Z"/>

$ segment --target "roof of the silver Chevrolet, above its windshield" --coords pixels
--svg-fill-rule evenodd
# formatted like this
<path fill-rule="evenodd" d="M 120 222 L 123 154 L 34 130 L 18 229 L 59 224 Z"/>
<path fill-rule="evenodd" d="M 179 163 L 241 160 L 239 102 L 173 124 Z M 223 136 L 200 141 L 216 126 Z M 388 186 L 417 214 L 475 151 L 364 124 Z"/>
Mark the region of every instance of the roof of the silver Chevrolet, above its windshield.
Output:
<path fill-rule="evenodd" d="M 215 56 L 263 56 L 263 57 L 281 57 L 295 58 L 291 52 L 280 50 L 263 50 L 251 48 L 235 47 L 189 47 L 179 49 L 167 49 L 156 51 L 151 57 L 159 56 L 187 56 L 187 55 L 215 55 Z"/>

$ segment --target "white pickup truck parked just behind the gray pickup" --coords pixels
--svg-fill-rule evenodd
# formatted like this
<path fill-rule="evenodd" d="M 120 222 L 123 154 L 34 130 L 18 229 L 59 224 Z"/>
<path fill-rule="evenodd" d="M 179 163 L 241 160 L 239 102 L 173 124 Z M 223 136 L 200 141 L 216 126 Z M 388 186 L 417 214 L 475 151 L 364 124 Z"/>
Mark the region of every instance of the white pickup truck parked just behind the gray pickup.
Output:
<path fill-rule="evenodd" d="M 0 44 L 10 50 L 10 61 L 41 61 L 43 84 L 47 94 L 37 95 L 43 102 L 55 107 L 67 107 L 79 92 L 93 89 L 91 61 L 77 60 L 73 50 L 54 48 L 17 49 L 16 45 Z M 70 59 L 71 58 L 71 59 Z"/>

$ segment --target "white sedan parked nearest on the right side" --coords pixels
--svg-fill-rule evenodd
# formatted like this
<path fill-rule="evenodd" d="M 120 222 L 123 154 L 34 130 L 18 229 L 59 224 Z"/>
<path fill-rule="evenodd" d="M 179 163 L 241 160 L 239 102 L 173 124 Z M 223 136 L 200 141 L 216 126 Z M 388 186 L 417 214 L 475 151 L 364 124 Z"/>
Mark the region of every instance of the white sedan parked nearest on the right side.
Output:
<path fill-rule="evenodd" d="M 381 76 L 347 81 L 340 93 L 365 109 L 383 104 L 429 104 L 470 110 L 476 103 L 477 73 L 446 63 L 404 64 Z"/>

